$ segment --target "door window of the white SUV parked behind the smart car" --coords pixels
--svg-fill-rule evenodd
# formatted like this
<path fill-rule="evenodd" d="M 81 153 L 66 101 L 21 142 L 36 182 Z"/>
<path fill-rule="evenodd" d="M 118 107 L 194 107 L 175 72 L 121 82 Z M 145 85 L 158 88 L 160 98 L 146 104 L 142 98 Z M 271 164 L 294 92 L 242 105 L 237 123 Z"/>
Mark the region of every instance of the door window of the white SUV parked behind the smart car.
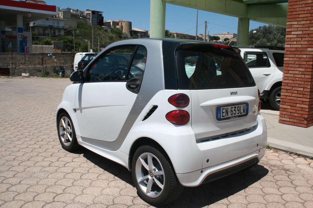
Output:
<path fill-rule="evenodd" d="M 249 68 L 265 68 L 271 66 L 265 52 L 244 52 L 244 62 Z"/>

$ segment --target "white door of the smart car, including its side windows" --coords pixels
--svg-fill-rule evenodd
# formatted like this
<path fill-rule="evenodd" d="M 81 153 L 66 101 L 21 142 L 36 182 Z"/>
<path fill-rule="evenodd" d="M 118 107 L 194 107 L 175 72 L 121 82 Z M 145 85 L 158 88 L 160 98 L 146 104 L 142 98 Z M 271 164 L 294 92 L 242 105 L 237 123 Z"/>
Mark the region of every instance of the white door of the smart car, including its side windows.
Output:
<path fill-rule="evenodd" d="M 78 87 L 75 102 L 79 136 L 108 142 L 117 139 L 140 87 L 133 86 L 131 80 L 136 79 L 136 74 L 131 73 L 131 68 L 138 61 L 136 57 L 142 56 L 146 56 L 142 46 L 113 48 L 85 69 L 85 82 Z"/>

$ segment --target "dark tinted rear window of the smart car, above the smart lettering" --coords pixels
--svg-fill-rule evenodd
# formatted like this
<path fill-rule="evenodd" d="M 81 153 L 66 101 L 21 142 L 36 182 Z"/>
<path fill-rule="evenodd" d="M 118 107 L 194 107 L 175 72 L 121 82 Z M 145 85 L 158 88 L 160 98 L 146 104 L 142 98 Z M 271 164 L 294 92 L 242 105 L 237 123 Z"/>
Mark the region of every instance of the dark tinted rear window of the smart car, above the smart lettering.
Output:
<path fill-rule="evenodd" d="M 239 54 L 227 49 L 177 50 L 179 89 L 217 89 L 255 86 Z"/>

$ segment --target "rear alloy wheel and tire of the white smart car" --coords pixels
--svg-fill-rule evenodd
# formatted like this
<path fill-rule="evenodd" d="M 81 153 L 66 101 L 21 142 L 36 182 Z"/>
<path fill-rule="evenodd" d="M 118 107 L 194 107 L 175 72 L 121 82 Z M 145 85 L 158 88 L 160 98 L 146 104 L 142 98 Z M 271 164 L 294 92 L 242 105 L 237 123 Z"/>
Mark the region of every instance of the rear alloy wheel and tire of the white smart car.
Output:
<path fill-rule="evenodd" d="M 152 146 L 141 146 L 135 152 L 132 177 L 138 196 L 151 205 L 170 203 L 183 190 L 165 152 Z"/>

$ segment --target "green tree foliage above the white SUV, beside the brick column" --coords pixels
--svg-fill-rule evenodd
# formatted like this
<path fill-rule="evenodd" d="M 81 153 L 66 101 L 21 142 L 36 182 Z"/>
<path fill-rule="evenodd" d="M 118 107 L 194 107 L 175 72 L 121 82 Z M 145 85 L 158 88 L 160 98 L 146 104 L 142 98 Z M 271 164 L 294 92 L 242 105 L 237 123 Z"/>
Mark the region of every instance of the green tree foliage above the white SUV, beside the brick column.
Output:
<path fill-rule="evenodd" d="M 251 46 L 285 46 L 286 28 L 273 25 L 263 25 L 250 30 L 256 33 L 249 34 L 249 45 Z"/>

